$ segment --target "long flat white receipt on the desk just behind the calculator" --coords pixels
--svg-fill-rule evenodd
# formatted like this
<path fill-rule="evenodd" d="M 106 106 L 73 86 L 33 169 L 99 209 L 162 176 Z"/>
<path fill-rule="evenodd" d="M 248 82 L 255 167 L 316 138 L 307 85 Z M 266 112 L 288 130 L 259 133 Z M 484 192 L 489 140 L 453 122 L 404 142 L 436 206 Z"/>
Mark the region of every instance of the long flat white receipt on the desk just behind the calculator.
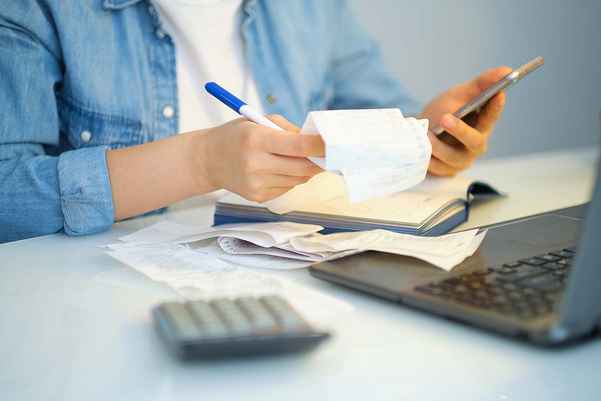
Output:
<path fill-rule="evenodd" d="M 320 322 L 353 311 L 346 302 L 283 278 L 232 266 L 182 245 L 131 242 L 99 248 L 152 280 L 168 284 L 188 299 L 279 295 L 308 322 Z"/>

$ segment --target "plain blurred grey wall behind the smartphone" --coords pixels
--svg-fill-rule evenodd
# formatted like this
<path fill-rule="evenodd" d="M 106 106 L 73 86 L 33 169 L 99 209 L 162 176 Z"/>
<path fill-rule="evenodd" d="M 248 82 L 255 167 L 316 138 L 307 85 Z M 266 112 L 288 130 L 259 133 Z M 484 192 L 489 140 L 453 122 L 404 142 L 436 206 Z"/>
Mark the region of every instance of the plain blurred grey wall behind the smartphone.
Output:
<path fill-rule="evenodd" d="M 598 144 L 601 0 L 352 0 L 421 102 L 492 67 L 546 63 L 507 91 L 487 156 Z"/>

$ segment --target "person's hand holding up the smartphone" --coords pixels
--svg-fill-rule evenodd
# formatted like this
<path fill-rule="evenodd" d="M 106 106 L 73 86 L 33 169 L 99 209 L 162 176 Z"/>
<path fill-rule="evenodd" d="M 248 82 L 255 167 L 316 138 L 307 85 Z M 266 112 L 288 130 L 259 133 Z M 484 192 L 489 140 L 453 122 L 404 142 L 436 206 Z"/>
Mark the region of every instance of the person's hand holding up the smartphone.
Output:
<path fill-rule="evenodd" d="M 430 173 L 437 176 L 459 173 L 486 152 L 488 138 L 505 104 L 505 94 L 501 92 L 493 96 L 479 113 L 472 114 L 466 121 L 449 113 L 455 112 L 510 72 L 510 67 L 489 70 L 471 81 L 450 88 L 424 108 L 423 117 L 430 120 L 430 127 L 441 124 L 457 139 L 456 144 L 448 144 L 428 132 L 432 142 L 432 159 L 428 167 Z"/>

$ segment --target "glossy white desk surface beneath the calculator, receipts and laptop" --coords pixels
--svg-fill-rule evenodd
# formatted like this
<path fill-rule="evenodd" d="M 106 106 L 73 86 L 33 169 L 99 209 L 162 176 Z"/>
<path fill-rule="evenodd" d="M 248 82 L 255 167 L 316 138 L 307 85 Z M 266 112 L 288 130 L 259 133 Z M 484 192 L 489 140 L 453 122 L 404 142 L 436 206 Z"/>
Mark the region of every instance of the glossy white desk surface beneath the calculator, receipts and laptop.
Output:
<path fill-rule="evenodd" d="M 597 149 L 478 162 L 465 176 L 510 197 L 480 204 L 461 228 L 588 200 Z M 150 308 L 179 299 L 96 245 L 158 219 L 209 224 L 198 209 L 0 245 L 3 400 L 532 400 L 601 399 L 601 341 L 540 349 L 288 271 L 356 312 L 326 322 L 309 354 L 180 364 Z M 116 270 L 115 270 L 116 269 Z"/>

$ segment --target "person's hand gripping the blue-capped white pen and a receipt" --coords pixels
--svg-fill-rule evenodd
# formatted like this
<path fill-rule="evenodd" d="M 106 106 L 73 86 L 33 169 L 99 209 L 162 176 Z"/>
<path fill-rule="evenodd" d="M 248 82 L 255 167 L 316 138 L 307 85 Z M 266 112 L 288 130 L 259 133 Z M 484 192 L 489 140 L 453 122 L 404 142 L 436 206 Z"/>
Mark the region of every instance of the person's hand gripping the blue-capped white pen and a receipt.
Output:
<path fill-rule="evenodd" d="M 199 136 L 194 175 L 199 186 L 209 182 L 250 201 L 263 203 L 307 182 L 323 170 L 307 159 L 324 156 L 320 136 L 301 135 L 301 129 L 280 115 L 269 115 L 279 131 L 238 118 Z"/>

